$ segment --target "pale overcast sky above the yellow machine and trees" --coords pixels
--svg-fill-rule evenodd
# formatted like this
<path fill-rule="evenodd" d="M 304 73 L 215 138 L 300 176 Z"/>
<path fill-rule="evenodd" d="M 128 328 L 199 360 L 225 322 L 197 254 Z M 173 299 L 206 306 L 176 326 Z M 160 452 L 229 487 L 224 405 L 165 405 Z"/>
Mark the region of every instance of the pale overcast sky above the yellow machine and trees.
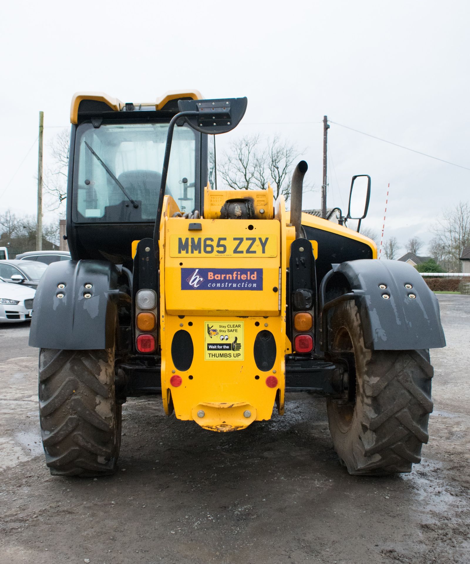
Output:
<path fill-rule="evenodd" d="M 463 0 L 4 2 L 0 212 L 35 213 L 38 112 L 48 147 L 78 90 L 123 102 L 188 88 L 247 96 L 236 133 L 296 142 L 318 187 L 324 114 L 470 168 L 469 16 Z M 365 224 L 379 232 L 390 183 L 385 239 L 427 242 L 442 209 L 469 199 L 470 170 L 334 124 L 329 147 L 329 206 L 346 207 L 351 176 L 370 174 Z M 305 200 L 320 207 L 320 191 Z"/>

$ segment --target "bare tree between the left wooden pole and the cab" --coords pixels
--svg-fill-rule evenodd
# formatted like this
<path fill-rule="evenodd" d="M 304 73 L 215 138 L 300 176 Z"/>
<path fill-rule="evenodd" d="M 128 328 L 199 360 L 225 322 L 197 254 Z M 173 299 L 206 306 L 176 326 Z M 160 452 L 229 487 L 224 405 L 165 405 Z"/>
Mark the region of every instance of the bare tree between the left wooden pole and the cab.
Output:
<path fill-rule="evenodd" d="M 67 173 L 70 156 L 70 133 L 63 129 L 51 143 L 52 166 L 47 168 L 43 183 L 52 196 L 51 210 L 59 208 L 67 197 Z"/>

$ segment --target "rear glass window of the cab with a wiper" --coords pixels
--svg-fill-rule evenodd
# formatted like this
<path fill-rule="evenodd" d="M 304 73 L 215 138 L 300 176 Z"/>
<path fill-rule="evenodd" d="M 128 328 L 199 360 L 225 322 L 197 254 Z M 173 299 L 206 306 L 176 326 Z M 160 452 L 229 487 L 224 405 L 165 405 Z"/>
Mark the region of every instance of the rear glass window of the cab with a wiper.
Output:
<path fill-rule="evenodd" d="M 168 124 L 78 126 L 74 221 L 153 222 L 167 129 Z M 183 213 L 195 208 L 196 135 L 188 126 L 177 126 L 171 146 L 165 193 L 175 199 Z M 137 208 L 130 199 L 138 204 Z"/>

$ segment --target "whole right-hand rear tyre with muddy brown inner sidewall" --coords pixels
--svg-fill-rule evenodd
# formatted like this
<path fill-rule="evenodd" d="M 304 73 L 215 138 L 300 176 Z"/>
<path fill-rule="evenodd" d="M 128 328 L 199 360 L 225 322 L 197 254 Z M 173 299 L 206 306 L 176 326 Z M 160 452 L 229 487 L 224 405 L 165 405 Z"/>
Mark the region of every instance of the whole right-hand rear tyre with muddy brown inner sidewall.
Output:
<path fill-rule="evenodd" d="M 433 407 L 428 351 L 366 349 L 352 301 L 333 312 L 330 346 L 350 368 L 349 400 L 327 401 L 335 451 L 349 474 L 411 472 L 428 442 Z"/>

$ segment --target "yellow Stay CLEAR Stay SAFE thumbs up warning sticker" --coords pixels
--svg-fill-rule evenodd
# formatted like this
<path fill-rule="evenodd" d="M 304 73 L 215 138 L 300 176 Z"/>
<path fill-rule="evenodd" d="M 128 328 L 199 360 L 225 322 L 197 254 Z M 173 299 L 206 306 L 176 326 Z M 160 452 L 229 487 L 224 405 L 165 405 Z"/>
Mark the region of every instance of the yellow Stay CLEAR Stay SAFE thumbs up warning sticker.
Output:
<path fill-rule="evenodd" d="M 205 360 L 243 360 L 243 321 L 206 321 Z"/>

